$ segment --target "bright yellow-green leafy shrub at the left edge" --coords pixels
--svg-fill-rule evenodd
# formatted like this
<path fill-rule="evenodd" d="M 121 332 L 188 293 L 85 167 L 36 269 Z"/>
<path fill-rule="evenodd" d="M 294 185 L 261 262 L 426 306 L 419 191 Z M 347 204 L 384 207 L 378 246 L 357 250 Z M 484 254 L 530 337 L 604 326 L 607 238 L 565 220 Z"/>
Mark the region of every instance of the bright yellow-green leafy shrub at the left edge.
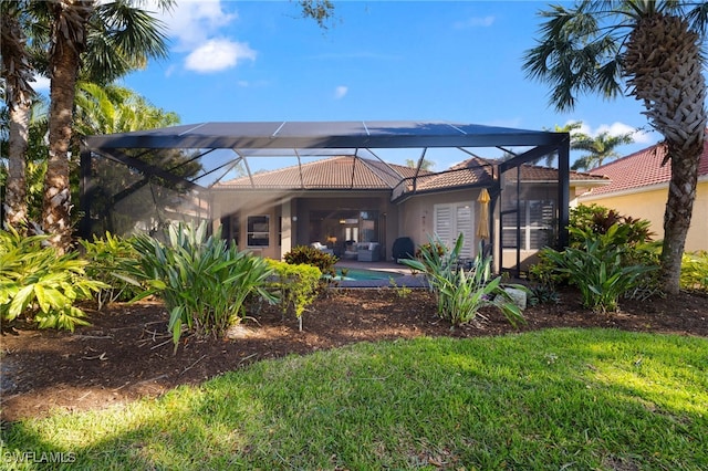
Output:
<path fill-rule="evenodd" d="M 24 315 L 39 328 L 73 332 L 88 324 L 75 304 L 107 286 L 86 276 L 88 262 L 79 260 L 77 252 L 60 254 L 44 244 L 46 239 L 0 231 L 0 318 Z"/>

